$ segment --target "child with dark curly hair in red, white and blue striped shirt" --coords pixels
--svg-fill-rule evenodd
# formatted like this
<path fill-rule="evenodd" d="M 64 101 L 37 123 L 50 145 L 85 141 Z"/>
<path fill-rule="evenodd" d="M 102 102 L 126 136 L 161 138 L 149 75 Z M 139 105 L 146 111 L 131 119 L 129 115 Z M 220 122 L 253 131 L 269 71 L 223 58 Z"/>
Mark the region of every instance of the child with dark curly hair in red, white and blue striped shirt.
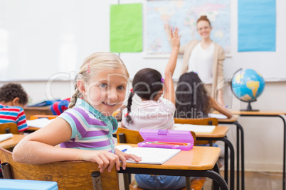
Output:
<path fill-rule="evenodd" d="M 0 88 L 0 124 L 16 123 L 18 131 L 28 129 L 23 107 L 28 103 L 28 96 L 21 84 L 9 83 Z"/>

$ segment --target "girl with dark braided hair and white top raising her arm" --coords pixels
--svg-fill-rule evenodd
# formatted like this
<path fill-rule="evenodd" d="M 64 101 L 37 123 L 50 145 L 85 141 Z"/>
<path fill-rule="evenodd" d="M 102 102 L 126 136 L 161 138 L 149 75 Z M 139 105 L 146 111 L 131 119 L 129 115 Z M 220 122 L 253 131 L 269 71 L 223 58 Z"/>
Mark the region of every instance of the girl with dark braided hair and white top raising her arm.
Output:
<path fill-rule="evenodd" d="M 132 130 L 141 128 L 173 129 L 175 96 L 172 76 L 176 68 L 180 38 L 176 28 L 171 31 L 172 51 L 165 69 L 165 79 L 155 69 L 141 69 L 135 74 L 132 92 L 129 94 L 127 108 L 123 111 L 122 127 Z M 161 95 L 164 92 L 164 96 Z M 137 108 L 131 110 L 132 98 L 137 94 L 142 99 Z M 180 189 L 186 186 L 186 178 L 178 176 L 135 174 L 137 184 L 143 189 Z"/>

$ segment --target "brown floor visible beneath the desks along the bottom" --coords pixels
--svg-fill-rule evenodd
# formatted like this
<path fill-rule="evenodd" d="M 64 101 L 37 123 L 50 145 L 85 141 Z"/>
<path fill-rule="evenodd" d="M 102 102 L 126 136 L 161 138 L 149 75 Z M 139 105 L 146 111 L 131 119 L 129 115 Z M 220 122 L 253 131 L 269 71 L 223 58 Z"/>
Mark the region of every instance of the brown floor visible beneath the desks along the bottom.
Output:
<path fill-rule="evenodd" d="M 223 175 L 223 171 L 221 171 Z M 120 175 L 120 190 L 124 190 L 123 176 Z M 236 178 L 235 178 L 236 179 Z M 132 174 L 134 180 L 134 174 Z M 207 179 L 203 190 L 211 189 L 211 179 Z M 241 188 L 241 185 L 240 185 Z M 236 189 L 236 184 L 235 184 Z M 270 172 L 245 172 L 245 190 L 281 190 L 282 173 Z"/>

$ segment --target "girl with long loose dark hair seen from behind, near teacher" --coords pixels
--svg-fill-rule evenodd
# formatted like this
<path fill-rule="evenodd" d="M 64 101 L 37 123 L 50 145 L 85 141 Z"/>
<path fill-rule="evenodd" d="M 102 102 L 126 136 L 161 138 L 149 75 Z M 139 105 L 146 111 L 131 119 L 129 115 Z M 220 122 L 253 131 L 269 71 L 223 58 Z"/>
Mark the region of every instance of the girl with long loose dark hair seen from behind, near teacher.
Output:
<path fill-rule="evenodd" d="M 186 72 L 179 78 L 176 88 L 175 118 L 208 118 L 211 108 L 231 118 L 231 112 L 208 96 L 203 82 L 194 72 Z"/>

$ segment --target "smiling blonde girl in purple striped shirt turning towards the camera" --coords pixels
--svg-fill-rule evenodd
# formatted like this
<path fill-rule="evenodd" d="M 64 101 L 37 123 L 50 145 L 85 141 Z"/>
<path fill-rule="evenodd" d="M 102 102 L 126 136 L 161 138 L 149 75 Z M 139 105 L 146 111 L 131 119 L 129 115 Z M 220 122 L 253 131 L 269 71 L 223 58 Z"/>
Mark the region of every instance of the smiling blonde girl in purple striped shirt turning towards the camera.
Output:
<path fill-rule="evenodd" d="M 69 109 L 50 124 L 21 140 L 13 159 L 28 164 L 85 160 L 99 164 L 100 172 L 126 167 L 126 160 L 141 160 L 115 148 L 112 133 L 117 121 L 112 113 L 122 106 L 129 79 L 120 59 L 110 52 L 87 57 L 75 79 Z M 55 145 L 60 144 L 60 147 Z"/>

